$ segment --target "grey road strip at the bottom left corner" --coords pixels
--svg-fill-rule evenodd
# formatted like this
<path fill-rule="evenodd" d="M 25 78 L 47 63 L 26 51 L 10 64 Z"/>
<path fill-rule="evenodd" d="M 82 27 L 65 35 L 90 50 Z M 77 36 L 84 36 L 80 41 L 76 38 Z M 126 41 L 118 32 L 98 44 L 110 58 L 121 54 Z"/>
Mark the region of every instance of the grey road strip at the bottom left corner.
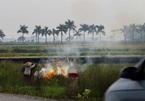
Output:
<path fill-rule="evenodd" d="M 54 99 L 46 99 L 46 98 L 41 98 L 41 97 L 28 96 L 28 95 L 0 93 L 0 101 L 73 101 L 73 100 L 70 100 L 70 99 L 54 100 Z"/>

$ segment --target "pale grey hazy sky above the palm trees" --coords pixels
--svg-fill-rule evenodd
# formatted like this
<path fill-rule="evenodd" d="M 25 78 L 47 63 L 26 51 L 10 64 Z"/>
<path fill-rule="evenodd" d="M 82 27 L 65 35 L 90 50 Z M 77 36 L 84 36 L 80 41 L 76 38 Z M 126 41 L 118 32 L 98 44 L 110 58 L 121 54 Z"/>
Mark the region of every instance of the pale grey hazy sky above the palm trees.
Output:
<path fill-rule="evenodd" d="M 68 19 L 80 24 L 104 25 L 111 29 L 145 22 L 145 0 L 0 0 L 0 29 L 6 37 L 19 37 L 20 25 L 56 28 Z"/>

